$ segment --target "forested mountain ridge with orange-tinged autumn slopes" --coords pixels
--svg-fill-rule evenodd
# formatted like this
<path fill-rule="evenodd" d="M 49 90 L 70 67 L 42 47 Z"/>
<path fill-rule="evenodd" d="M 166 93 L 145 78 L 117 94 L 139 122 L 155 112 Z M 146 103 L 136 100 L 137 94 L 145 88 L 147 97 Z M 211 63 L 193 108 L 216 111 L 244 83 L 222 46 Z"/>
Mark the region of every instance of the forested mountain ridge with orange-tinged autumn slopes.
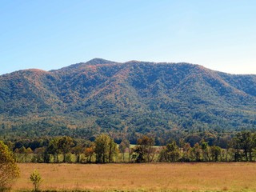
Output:
<path fill-rule="evenodd" d="M 256 127 L 256 75 L 189 63 L 94 58 L 0 76 L 0 134 L 240 130 Z"/>

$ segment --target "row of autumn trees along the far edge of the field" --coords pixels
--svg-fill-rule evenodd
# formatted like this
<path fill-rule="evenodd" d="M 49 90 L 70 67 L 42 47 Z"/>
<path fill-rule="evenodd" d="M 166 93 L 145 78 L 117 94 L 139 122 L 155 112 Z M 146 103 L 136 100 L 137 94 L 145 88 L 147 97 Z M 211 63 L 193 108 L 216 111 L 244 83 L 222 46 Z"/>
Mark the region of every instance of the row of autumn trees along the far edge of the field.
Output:
<path fill-rule="evenodd" d="M 117 144 L 107 134 L 89 140 L 68 136 L 6 142 L 18 162 L 242 162 L 256 161 L 256 132 L 238 132 L 227 147 L 210 145 L 203 139 L 193 146 L 184 139 L 170 138 L 166 146 L 155 146 L 154 138 L 142 135 L 136 145 L 126 139 Z"/>

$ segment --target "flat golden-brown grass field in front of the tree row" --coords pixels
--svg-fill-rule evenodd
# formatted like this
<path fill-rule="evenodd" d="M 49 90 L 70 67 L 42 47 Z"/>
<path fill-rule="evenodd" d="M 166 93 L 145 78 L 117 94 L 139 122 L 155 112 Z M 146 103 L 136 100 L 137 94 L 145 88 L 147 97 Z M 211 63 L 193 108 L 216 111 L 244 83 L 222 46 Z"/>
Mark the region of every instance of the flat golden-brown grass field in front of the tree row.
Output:
<path fill-rule="evenodd" d="M 18 164 L 13 190 L 32 190 L 30 174 L 42 175 L 42 190 L 256 191 L 256 163 Z"/>

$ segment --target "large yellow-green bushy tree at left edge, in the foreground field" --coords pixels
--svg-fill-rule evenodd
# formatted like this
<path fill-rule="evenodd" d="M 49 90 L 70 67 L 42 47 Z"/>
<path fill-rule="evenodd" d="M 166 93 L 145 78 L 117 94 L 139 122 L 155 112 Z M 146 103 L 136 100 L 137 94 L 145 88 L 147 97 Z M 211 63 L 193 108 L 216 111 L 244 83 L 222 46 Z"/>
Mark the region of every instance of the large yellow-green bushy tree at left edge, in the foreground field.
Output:
<path fill-rule="evenodd" d="M 0 141 L 0 189 L 11 186 L 12 181 L 19 177 L 19 169 L 14 154 Z"/>

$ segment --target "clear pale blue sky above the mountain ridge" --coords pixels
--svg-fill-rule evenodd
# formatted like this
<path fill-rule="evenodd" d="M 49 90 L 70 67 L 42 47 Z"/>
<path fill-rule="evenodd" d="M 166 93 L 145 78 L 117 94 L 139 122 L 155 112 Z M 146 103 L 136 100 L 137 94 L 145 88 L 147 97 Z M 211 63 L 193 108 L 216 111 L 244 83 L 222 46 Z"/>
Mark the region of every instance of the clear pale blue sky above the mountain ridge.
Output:
<path fill-rule="evenodd" d="M 0 0 L 0 74 L 92 58 L 256 74 L 256 1 Z"/>

